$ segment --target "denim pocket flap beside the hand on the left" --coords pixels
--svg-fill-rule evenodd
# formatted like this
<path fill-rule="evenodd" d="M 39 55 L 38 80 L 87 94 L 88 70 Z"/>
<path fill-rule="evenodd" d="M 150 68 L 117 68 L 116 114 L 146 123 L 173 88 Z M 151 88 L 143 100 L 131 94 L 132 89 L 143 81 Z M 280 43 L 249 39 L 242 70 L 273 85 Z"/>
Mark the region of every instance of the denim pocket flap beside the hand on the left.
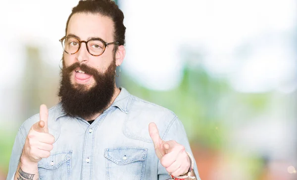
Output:
<path fill-rule="evenodd" d="M 38 162 L 38 167 L 49 170 L 57 169 L 61 164 L 71 158 L 71 154 L 72 151 L 63 151 L 50 154 L 48 158 L 43 158 Z"/>

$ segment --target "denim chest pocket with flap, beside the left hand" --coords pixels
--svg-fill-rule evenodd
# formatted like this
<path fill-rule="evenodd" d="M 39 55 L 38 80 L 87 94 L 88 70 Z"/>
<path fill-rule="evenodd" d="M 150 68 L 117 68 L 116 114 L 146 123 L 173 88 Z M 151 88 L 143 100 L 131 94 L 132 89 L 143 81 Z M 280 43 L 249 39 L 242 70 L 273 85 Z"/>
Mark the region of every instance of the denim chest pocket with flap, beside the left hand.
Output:
<path fill-rule="evenodd" d="M 50 154 L 38 162 L 40 180 L 70 180 L 72 151 Z"/>

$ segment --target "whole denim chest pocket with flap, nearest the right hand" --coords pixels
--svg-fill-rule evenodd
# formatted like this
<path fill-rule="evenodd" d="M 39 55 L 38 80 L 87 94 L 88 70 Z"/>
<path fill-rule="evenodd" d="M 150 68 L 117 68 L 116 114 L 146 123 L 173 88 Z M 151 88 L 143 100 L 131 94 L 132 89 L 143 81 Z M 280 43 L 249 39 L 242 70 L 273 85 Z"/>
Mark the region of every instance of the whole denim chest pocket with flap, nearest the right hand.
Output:
<path fill-rule="evenodd" d="M 107 180 L 143 180 L 148 149 L 114 147 L 105 149 Z"/>

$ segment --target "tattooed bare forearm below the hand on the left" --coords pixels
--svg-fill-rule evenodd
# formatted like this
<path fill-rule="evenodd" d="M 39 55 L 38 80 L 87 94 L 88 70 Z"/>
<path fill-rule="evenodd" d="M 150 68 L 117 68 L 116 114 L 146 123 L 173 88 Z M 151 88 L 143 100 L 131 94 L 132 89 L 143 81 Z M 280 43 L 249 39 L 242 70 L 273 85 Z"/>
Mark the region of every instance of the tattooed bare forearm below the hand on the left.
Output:
<path fill-rule="evenodd" d="M 24 159 L 20 159 L 14 180 L 39 180 L 37 163 L 28 163 Z"/>

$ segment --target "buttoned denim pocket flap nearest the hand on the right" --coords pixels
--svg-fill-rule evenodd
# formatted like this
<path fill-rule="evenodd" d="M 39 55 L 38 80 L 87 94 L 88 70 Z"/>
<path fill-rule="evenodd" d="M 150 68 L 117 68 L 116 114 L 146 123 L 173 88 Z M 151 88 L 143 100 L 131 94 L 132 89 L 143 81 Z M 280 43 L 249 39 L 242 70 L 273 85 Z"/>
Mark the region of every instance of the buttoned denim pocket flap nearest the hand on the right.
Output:
<path fill-rule="evenodd" d="M 106 148 L 104 156 L 112 162 L 121 165 L 146 160 L 147 151 L 148 149 L 141 147 L 114 147 Z"/>

